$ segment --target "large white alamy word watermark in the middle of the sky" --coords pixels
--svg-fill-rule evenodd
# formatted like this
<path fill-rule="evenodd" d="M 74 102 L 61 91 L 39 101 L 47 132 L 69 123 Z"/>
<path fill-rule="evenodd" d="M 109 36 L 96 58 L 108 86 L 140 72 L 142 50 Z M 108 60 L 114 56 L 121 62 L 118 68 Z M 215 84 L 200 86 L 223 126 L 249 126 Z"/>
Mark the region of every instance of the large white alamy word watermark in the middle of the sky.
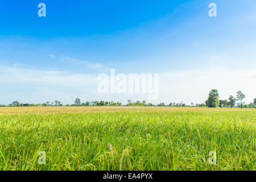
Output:
<path fill-rule="evenodd" d="M 159 96 L 158 73 L 118 73 L 110 69 L 110 76 L 101 73 L 97 78 L 100 94 L 147 94 L 148 100 L 157 100 Z"/>

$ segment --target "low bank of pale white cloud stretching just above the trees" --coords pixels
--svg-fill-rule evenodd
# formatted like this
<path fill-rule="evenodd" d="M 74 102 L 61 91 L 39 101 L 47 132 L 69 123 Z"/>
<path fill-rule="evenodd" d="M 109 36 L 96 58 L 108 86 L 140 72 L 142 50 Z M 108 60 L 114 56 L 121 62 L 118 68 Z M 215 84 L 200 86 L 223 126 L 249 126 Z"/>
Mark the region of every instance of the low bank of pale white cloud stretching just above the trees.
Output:
<path fill-rule="evenodd" d="M 218 89 L 220 99 L 228 99 L 229 95 L 236 96 L 236 92 L 241 90 L 245 95 L 245 102 L 249 103 L 256 97 L 256 70 L 230 70 L 230 69 L 210 69 L 205 71 L 181 71 L 165 72 L 159 74 L 159 100 L 152 103 L 181 102 L 186 104 L 201 103 L 207 99 L 211 89 Z M 147 100 L 147 96 L 130 94 L 104 94 L 97 93 L 97 76 L 76 74 L 64 71 L 42 71 L 39 69 L 27 69 L 18 67 L 0 66 L 0 84 L 6 85 L 5 88 L 17 90 L 9 100 L 29 100 L 28 95 L 34 94 L 31 88 L 40 87 L 42 90 L 48 90 L 47 93 L 40 93 L 40 97 L 45 100 L 58 96 L 56 93 L 62 93 L 59 100 L 63 102 L 72 101 L 79 97 L 82 100 L 113 100 L 125 103 L 131 100 Z M 25 86 L 25 91 L 20 91 L 20 86 Z M 19 94 L 16 94 L 19 92 Z M 51 93 L 54 93 L 51 95 Z M 6 93 L 6 96 L 9 93 Z M 70 98 L 73 94 L 72 99 Z M 60 94 L 59 94 L 60 95 Z M 32 97 L 32 96 L 29 96 Z M 40 100 L 38 95 L 34 94 L 34 102 Z"/>

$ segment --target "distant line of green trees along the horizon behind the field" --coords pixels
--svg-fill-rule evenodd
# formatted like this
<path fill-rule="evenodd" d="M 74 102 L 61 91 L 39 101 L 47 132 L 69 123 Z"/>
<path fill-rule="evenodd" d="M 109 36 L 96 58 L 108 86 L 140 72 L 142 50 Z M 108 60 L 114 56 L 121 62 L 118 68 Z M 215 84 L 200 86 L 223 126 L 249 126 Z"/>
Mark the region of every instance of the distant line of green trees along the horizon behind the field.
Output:
<path fill-rule="evenodd" d="M 208 94 L 208 99 L 205 101 L 205 103 L 202 104 L 193 104 L 191 102 L 191 105 L 185 105 L 183 102 L 170 102 L 170 104 L 166 105 L 163 102 L 159 104 L 151 104 L 146 103 L 146 101 L 136 101 L 131 102 L 131 100 L 127 101 L 126 105 L 123 105 L 121 102 L 114 102 L 114 101 L 86 101 L 81 102 L 80 98 L 76 98 L 74 104 L 67 104 L 63 105 L 60 101 L 54 101 L 54 102 L 44 102 L 43 104 L 23 104 L 19 103 L 19 101 L 14 101 L 9 105 L 1 105 L 0 107 L 41 107 L 41 106 L 169 106 L 169 107 L 186 107 L 186 106 L 192 106 L 192 107 L 245 107 L 245 108 L 256 108 L 256 98 L 254 98 L 253 102 L 250 102 L 250 104 L 245 104 L 242 102 L 245 98 L 245 94 L 243 94 L 241 91 L 237 92 L 237 96 L 229 96 L 228 100 L 219 100 L 219 94 L 218 90 L 212 89 L 210 90 Z M 238 101 L 238 102 L 237 102 Z"/>

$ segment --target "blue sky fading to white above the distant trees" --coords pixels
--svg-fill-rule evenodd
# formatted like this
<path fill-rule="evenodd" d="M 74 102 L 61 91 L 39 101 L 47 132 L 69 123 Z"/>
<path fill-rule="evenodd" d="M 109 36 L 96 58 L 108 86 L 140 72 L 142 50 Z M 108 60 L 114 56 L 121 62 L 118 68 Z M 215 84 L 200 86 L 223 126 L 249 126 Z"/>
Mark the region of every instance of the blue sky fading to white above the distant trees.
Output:
<path fill-rule="evenodd" d="M 95 79 L 110 68 L 159 73 L 155 103 L 201 103 L 212 88 L 222 99 L 238 90 L 246 102 L 256 97 L 254 0 L 1 0 L 0 22 L 0 104 L 147 100 L 98 94 Z"/>

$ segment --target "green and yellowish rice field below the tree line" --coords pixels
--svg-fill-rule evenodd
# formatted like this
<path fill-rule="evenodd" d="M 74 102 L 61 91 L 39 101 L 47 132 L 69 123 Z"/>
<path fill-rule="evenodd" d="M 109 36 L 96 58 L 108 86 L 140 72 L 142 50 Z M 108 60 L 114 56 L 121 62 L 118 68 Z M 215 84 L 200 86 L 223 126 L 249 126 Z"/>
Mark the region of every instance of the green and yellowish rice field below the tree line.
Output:
<path fill-rule="evenodd" d="M 255 109 L 2 107 L 0 169 L 253 170 L 255 124 Z"/>

